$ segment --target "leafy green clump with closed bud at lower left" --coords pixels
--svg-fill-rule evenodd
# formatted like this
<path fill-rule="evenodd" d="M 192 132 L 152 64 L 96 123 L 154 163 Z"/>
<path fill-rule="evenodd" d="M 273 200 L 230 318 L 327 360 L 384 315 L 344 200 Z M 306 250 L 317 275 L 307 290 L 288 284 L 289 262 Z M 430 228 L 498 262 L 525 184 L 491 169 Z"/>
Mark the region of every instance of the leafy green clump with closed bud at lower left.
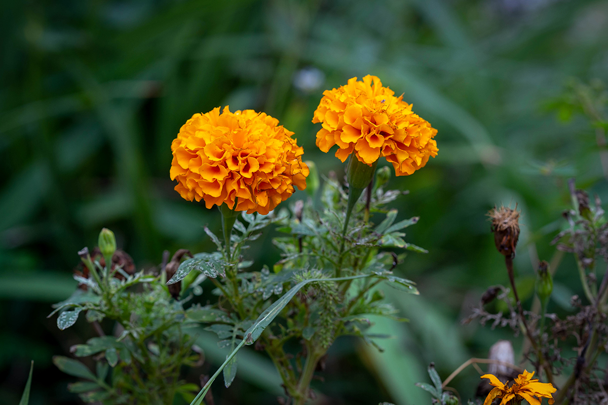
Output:
<path fill-rule="evenodd" d="M 74 276 L 80 288 L 55 304 L 49 315 L 60 313 L 57 326 L 63 330 L 84 312 L 100 335 L 70 350 L 77 358 L 92 356 L 95 372 L 77 359 L 54 357 L 60 370 L 85 380 L 69 384 L 68 389 L 89 403 L 168 404 L 176 393 L 192 400 L 198 386 L 180 381 L 179 373 L 184 365 L 199 364 L 201 355 L 193 338 L 182 330 L 185 311 L 181 302 L 171 298 L 164 273 L 131 275 L 118 268 L 115 271 L 122 276 L 118 278 L 99 262 L 92 265 L 103 275 L 101 282 Z M 114 325 L 112 335 L 103 332 L 104 319 Z"/>

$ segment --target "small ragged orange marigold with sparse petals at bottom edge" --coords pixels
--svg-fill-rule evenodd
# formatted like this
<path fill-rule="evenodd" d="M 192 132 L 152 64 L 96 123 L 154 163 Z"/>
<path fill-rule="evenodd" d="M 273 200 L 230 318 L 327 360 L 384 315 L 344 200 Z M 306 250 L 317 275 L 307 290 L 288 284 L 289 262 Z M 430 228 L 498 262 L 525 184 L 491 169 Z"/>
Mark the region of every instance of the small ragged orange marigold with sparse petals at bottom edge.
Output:
<path fill-rule="evenodd" d="M 509 387 L 492 374 L 482 375 L 482 378 L 488 378 L 489 384 L 495 387 L 483 401 L 483 405 L 490 405 L 494 398 L 502 398 L 500 405 L 505 405 L 514 398 L 516 401 L 526 400 L 530 405 L 541 405 L 542 398 L 549 398 L 549 404 L 553 404 L 551 394 L 556 392 L 556 389 L 551 384 L 539 383 L 537 378 L 532 379 L 533 376 L 534 372 L 523 370 L 523 374 L 517 376 Z"/>

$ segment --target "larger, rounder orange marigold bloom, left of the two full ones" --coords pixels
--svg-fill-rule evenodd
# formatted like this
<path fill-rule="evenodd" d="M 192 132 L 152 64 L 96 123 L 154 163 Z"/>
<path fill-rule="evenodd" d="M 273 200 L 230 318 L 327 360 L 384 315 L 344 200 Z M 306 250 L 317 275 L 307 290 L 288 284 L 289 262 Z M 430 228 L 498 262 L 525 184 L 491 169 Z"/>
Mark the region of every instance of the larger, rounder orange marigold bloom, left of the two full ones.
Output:
<path fill-rule="evenodd" d="M 294 133 L 278 120 L 253 110 L 226 106 L 195 114 L 171 143 L 171 180 L 186 200 L 205 200 L 207 208 L 268 214 L 294 192 L 306 188 L 308 166 Z"/>

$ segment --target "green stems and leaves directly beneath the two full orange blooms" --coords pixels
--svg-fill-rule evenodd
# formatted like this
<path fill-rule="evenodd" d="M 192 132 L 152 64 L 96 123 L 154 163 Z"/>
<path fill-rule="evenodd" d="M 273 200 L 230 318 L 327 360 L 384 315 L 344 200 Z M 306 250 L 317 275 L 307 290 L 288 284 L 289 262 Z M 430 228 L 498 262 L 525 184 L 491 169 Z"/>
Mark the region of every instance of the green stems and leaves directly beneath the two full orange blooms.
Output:
<path fill-rule="evenodd" d="M 192 307 L 185 316 L 208 323 L 208 329 L 218 335 L 219 344 L 234 349 L 223 367 L 226 386 L 235 376 L 237 350 L 257 341 L 256 348 L 265 350 L 277 367 L 288 401 L 305 403 L 311 395 L 309 384 L 314 370 L 336 338 L 360 336 L 376 345 L 374 338 L 383 336 L 367 332 L 371 326 L 368 315 L 399 319 L 395 308 L 382 302 L 383 295 L 376 285 L 386 281 L 408 293 L 418 291 L 412 281 L 392 274 L 404 255 L 384 249 L 424 250 L 402 239 L 402 229 L 416 223 L 417 218 L 395 222 L 397 211 L 383 208 L 402 194 L 384 191 L 383 177 L 385 170 L 379 169 L 375 187 L 359 200 L 345 236 L 342 230 L 347 193 L 336 179 L 326 179 L 320 210 L 313 200 L 300 200 L 289 210 L 268 216 L 243 214 L 243 222 L 235 222 L 230 237 L 230 257 L 218 237 L 206 230 L 218 245 L 218 252 L 185 260 L 169 282 L 179 282 L 197 270 L 215 284 L 218 302 Z M 375 226 L 368 220 L 370 213 L 381 213 L 385 218 Z M 246 243 L 271 223 L 277 223 L 278 231 L 288 235 L 274 239 L 282 260 L 272 271 L 266 267 L 246 271 L 252 265 L 241 255 Z M 219 260 L 226 264 L 224 273 L 211 268 L 210 264 Z M 288 292 L 274 301 L 274 296 L 285 290 Z M 200 400 L 212 381 L 201 391 Z"/>

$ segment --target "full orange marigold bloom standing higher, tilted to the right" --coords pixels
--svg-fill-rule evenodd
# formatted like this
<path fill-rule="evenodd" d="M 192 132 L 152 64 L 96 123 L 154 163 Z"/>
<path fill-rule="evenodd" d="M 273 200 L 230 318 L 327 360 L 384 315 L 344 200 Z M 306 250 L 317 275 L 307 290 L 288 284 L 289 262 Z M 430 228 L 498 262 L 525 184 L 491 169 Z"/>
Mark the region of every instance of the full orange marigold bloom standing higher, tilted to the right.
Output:
<path fill-rule="evenodd" d="M 353 152 L 367 165 L 382 155 L 396 175 L 408 175 L 437 156 L 437 129 L 375 76 L 363 81 L 353 77 L 346 86 L 325 90 L 314 112 L 313 123 L 319 122 L 323 128 L 317 132 L 317 146 L 328 152 L 337 144 L 336 157 L 342 162 Z"/>

